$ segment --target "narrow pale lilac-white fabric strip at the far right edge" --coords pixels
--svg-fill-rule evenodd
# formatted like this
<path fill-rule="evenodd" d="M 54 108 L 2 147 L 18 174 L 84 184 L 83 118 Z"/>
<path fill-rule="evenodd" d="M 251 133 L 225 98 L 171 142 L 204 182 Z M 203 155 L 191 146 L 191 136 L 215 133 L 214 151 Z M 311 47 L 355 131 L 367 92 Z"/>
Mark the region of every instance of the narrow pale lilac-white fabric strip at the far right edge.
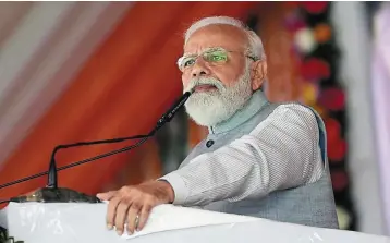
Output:
<path fill-rule="evenodd" d="M 390 3 L 386 2 L 375 20 L 375 42 L 371 60 L 371 97 L 376 146 L 380 167 L 383 205 L 390 205 Z M 386 233 L 390 234 L 390 208 L 383 207 Z"/>

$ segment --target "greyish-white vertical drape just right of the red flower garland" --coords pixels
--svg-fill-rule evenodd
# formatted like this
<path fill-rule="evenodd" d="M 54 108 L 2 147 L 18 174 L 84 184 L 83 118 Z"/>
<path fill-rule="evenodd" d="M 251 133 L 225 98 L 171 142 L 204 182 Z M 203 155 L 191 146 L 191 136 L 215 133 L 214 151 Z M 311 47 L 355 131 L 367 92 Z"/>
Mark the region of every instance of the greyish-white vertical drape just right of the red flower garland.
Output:
<path fill-rule="evenodd" d="M 340 47 L 339 81 L 346 90 L 348 170 L 357 212 L 357 229 L 385 234 L 380 168 L 375 144 L 375 119 L 370 100 L 370 33 L 365 2 L 332 3 L 334 38 Z"/>

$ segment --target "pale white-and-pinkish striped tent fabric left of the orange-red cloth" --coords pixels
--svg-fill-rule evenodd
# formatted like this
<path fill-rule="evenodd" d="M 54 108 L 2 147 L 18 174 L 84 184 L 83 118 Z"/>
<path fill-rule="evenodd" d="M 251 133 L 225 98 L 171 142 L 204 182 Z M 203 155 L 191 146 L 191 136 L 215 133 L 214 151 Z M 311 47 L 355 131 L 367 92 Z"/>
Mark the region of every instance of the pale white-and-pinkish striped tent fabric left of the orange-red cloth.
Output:
<path fill-rule="evenodd" d="M 1 3 L 0 166 L 131 5 Z"/>

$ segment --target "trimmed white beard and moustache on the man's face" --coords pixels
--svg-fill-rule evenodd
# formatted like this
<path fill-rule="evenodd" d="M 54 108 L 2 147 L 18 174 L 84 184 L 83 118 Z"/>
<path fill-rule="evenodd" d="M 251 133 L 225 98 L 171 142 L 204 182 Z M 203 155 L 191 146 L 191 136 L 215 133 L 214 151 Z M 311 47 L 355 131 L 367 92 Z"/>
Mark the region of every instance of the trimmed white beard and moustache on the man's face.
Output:
<path fill-rule="evenodd" d="M 231 87 L 212 77 L 200 77 L 192 80 L 186 90 L 200 84 L 215 85 L 217 90 L 192 94 L 185 102 L 186 112 L 198 125 L 212 126 L 230 119 L 251 98 L 251 66 L 246 65 L 244 74 Z"/>

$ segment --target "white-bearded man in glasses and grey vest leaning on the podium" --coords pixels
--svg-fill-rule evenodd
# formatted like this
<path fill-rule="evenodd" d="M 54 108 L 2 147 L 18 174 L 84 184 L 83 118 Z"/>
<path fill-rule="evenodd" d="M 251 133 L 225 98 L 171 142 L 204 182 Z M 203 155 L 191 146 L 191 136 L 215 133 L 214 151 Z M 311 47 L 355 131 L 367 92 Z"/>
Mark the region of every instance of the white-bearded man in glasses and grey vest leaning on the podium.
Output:
<path fill-rule="evenodd" d="M 178 66 L 183 90 L 194 90 L 186 111 L 209 134 L 178 170 L 98 194 L 108 228 L 142 230 L 159 204 L 338 228 L 324 123 L 310 108 L 267 100 L 260 38 L 234 19 L 203 19 Z"/>

